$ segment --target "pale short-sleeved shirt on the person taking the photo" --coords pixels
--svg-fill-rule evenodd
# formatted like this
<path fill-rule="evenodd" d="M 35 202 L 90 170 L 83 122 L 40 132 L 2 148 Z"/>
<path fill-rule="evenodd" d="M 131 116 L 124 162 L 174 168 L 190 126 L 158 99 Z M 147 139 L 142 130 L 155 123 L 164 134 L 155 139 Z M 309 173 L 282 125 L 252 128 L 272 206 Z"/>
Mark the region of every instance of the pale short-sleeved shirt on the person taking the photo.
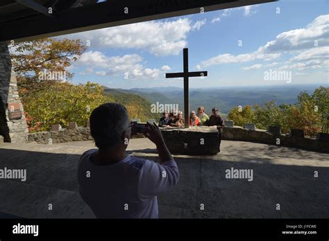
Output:
<path fill-rule="evenodd" d="M 158 218 L 157 195 L 179 178 L 176 161 L 160 165 L 128 155 L 108 166 L 90 160 L 97 149 L 83 153 L 78 163 L 79 193 L 99 218 Z"/>

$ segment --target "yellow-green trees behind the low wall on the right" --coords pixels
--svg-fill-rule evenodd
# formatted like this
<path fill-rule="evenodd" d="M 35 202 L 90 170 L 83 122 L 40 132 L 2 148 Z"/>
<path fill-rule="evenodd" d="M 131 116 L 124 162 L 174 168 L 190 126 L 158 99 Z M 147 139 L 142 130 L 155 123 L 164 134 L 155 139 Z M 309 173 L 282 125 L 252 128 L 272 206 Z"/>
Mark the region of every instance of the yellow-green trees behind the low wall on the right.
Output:
<path fill-rule="evenodd" d="M 328 132 L 329 88 L 319 87 L 312 95 L 303 91 L 297 96 L 297 100 L 295 105 L 284 103 L 278 106 L 275 100 L 263 102 L 262 105 L 255 103 L 255 111 L 249 106 L 239 112 L 235 107 L 228 117 L 236 125 L 253 120 L 258 128 L 264 130 L 269 125 L 280 126 L 282 133 L 290 132 L 291 129 L 304 130 L 307 136 L 315 136 L 321 129 Z"/>

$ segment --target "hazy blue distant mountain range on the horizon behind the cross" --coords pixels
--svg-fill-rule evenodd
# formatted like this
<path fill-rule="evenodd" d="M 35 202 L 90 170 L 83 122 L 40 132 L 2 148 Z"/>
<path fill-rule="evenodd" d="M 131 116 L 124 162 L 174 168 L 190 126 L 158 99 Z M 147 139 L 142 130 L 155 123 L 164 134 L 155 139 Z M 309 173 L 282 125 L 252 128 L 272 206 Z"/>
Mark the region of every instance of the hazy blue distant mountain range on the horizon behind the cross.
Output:
<path fill-rule="evenodd" d="M 223 116 L 239 105 L 261 104 L 269 100 L 276 100 L 278 105 L 282 103 L 294 104 L 296 97 L 301 91 L 312 93 L 321 84 L 304 84 L 271 87 L 223 87 L 217 89 L 189 89 L 189 107 L 195 110 L 199 106 L 205 107 L 205 111 L 211 114 L 213 107 L 219 108 Z M 323 84 L 325 86 L 325 84 Z M 328 84 L 327 84 L 328 86 Z M 134 89 L 110 89 L 108 91 L 119 91 L 142 96 L 151 103 L 178 104 L 179 109 L 184 110 L 183 89 L 178 87 L 157 87 L 157 88 L 134 88 Z"/>

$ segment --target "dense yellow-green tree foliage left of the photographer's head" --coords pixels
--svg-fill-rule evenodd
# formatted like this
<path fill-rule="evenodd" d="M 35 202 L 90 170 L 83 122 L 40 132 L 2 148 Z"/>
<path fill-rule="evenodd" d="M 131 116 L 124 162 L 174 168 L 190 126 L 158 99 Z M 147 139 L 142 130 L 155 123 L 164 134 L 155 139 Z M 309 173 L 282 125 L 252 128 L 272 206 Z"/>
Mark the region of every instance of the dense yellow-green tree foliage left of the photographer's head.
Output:
<path fill-rule="evenodd" d="M 92 110 L 104 102 L 110 101 L 103 95 L 103 87 L 99 84 L 70 84 L 56 82 L 48 89 L 40 90 L 25 96 L 24 109 L 29 116 L 29 128 L 33 131 L 47 131 L 52 124 L 67 127 L 74 121 L 85 125 Z M 32 118 L 32 119 L 31 119 Z M 35 126 L 38 126 L 35 130 Z"/>

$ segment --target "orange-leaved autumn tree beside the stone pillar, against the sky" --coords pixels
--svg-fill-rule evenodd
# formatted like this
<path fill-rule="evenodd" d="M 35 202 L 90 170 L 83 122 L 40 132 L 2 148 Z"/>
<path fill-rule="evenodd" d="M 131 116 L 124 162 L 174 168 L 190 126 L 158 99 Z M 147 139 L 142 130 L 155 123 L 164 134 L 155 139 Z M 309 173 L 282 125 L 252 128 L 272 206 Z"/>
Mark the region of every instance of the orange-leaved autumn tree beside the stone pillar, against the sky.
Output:
<path fill-rule="evenodd" d="M 36 39 L 30 42 L 15 42 L 10 46 L 12 69 L 17 75 L 19 95 L 47 89 L 53 82 L 54 73 L 64 73 L 67 80 L 73 73 L 68 71 L 71 63 L 86 50 L 80 39 Z M 25 104 L 25 103 L 24 103 Z"/>

